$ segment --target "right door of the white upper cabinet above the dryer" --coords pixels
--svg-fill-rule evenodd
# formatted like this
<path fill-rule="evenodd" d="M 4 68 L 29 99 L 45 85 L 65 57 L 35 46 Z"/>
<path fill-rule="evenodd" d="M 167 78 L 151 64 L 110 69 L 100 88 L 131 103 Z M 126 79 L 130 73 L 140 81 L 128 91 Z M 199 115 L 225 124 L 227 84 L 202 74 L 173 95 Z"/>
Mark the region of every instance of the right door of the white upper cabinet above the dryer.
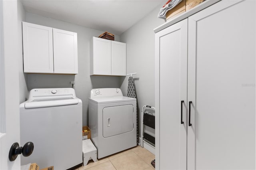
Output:
<path fill-rule="evenodd" d="M 111 41 L 111 75 L 126 75 L 126 43 Z"/>

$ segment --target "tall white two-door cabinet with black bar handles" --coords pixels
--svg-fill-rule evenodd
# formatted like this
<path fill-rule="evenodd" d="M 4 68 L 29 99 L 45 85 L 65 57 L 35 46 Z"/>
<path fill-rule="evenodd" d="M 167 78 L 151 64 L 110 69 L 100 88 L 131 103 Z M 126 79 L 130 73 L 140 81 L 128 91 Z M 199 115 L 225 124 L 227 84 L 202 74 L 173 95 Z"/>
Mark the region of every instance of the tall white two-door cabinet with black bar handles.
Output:
<path fill-rule="evenodd" d="M 250 0 L 156 33 L 156 169 L 255 169 L 255 47 Z"/>

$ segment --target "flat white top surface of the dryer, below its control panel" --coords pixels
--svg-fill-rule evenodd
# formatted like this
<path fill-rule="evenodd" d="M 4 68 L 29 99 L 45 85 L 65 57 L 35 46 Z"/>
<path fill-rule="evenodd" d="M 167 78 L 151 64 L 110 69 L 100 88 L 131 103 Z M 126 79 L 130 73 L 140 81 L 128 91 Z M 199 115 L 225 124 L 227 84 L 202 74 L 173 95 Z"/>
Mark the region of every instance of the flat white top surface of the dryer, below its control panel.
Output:
<path fill-rule="evenodd" d="M 117 103 L 124 101 L 136 101 L 135 98 L 124 97 L 124 96 L 116 96 L 116 97 L 102 97 L 102 98 L 89 98 L 90 101 L 97 104 L 105 104 L 105 103 Z"/>

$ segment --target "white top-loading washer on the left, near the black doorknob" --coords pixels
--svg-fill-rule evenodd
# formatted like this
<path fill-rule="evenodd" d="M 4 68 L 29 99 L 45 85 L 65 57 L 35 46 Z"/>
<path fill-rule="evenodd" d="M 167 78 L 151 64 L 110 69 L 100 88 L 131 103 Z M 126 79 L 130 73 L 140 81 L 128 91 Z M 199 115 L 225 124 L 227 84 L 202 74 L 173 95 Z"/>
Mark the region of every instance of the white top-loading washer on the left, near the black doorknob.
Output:
<path fill-rule="evenodd" d="M 34 143 L 21 165 L 66 170 L 82 165 L 82 101 L 72 88 L 32 89 L 20 104 L 20 144 Z"/>

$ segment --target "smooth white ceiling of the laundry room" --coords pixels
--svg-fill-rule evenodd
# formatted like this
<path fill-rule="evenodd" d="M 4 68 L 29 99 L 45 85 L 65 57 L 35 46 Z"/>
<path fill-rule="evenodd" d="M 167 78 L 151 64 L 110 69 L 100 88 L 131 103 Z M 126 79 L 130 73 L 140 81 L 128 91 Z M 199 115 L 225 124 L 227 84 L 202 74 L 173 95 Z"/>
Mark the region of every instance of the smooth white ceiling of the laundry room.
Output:
<path fill-rule="evenodd" d="M 166 1 L 22 0 L 22 4 L 26 12 L 121 35 Z"/>

